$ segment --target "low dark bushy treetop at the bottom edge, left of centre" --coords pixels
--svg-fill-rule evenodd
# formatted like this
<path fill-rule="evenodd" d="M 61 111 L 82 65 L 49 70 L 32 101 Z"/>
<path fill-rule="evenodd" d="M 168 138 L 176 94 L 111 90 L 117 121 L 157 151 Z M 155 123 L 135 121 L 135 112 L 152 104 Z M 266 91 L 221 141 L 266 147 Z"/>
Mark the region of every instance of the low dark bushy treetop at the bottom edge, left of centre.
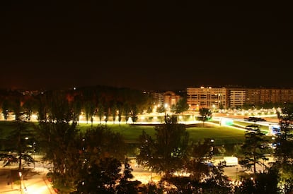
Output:
<path fill-rule="evenodd" d="M 132 169 L 127 162 L 124 163 L 124 166 L 125 169 L 122 171 L 120 160 L 112 157 L 84 165 L 79 173 L 74 193 L 139 193 L 140 182 L 130 181 L 129 179 L 133 177 Z"/>

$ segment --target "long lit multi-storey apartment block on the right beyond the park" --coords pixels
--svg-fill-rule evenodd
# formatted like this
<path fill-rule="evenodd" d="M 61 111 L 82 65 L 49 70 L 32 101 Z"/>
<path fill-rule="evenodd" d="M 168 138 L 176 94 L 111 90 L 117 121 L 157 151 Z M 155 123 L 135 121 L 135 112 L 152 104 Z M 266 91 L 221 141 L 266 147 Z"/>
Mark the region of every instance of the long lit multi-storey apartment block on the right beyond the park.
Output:
<path fill-rule="evenodd" d="M 188 87 L 187 102 L 190 111 L 202 107 L 226 109 L 242 107 L 243 104 L 293 102 L 293 89 Z"/>

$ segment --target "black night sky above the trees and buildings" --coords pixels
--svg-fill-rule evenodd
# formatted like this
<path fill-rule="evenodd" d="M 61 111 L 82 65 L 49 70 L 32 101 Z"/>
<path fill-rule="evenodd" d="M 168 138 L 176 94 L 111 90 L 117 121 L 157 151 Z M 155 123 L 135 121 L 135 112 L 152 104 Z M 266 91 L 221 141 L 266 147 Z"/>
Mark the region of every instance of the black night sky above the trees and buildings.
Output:
<path fill-rule="evenodd" d="M 293 87 L 289 4 L 117 2 L 1 2 L 0 87 Z"/>

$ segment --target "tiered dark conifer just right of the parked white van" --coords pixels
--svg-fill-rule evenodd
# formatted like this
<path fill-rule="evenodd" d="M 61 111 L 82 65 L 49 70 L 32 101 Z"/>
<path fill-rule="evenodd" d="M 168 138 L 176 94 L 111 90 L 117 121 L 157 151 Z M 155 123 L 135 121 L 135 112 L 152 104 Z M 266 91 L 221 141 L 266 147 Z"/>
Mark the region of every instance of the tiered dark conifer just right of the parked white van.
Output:
<path fill-rule="evenodd" d="M 250 130 L 245 133 L 245 140 L 241 145 L 244 159 L 239 162 L 246 169 L 253 167 L 254 175 L 257 173 L 256 164 L 265 166 L 264 161 L 268 160 L 265 154 L 268 151 L 268 140 L 265 138 L 265 133 L 260 131 L 260 126 L 252 125 Z M 260 161 L 261 160 L 261 161 Z"/>

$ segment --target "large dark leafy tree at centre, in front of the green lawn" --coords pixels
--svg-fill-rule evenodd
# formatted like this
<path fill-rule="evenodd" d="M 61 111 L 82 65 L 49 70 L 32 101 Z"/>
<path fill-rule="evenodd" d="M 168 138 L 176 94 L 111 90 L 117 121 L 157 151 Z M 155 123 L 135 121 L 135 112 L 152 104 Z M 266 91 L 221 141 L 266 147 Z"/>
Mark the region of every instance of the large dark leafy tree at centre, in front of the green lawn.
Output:
<path fill-rule="evenodd" d="M 175 116 L 166 115 L 165 123 L 155 127 L 156 140 L 144 131 L 139 137 L 137 162 L 164 176 L 182 169 L 188 159 L 188 132 Z"/>

